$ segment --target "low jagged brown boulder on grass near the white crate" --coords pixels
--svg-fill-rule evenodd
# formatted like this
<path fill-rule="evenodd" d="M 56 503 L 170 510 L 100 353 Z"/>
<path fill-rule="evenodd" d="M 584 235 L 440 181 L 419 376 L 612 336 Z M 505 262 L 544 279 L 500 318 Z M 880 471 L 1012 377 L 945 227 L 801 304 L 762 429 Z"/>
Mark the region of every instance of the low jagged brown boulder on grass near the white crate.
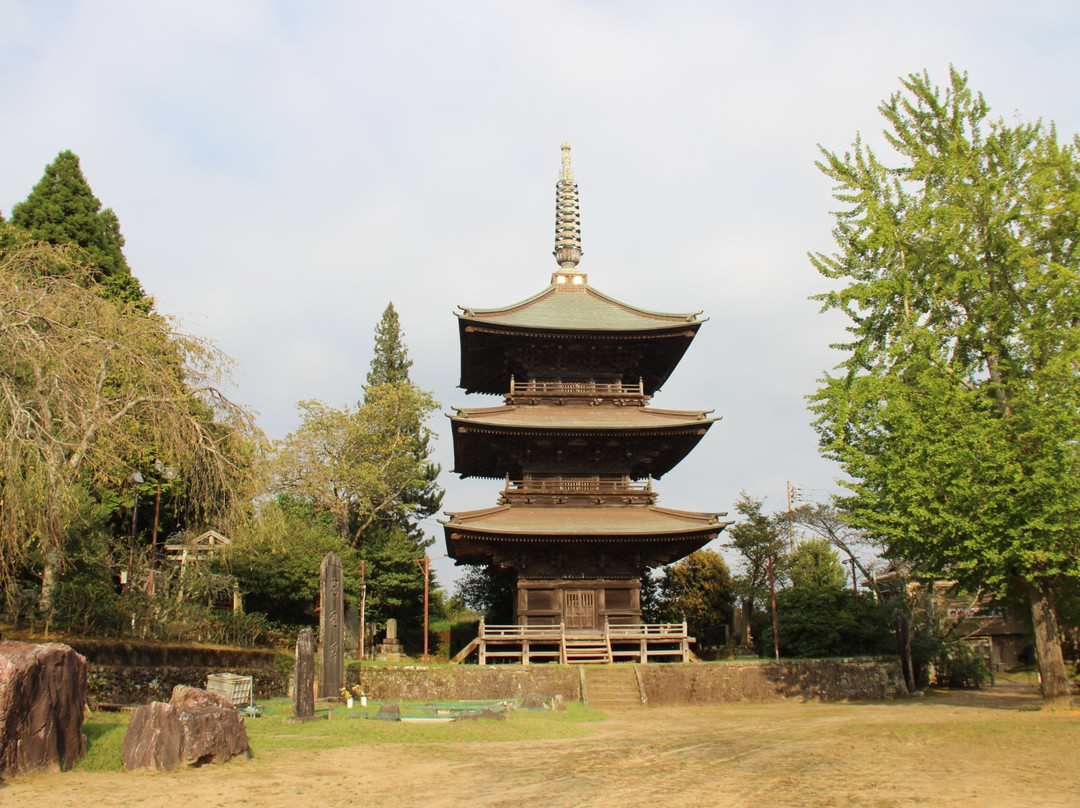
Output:
<path fill-rule="evenodd" d="M 237 708 L 217 693 L 177 685 L 168 703 L 144 704 L 132 715 L 121 751 L 124 768 L 172 771 L 180 764 L 225 763 L 247 752 Z"/>

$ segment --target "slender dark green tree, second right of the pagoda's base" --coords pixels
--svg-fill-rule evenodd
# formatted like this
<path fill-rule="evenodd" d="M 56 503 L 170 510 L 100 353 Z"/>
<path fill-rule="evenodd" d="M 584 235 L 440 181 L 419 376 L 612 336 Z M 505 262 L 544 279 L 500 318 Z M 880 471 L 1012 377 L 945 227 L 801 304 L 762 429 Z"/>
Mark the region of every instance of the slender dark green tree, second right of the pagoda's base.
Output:
<path fill-rule="evenodd" d="M 728 528 L 734 548 L 742 556 L 741 569 L 734 577 L 734 593 L 743 610 L 743 625 L 747 629 L 757 624 L 756 615 L 767 610 L 769 603 L 769 564 L 777 585 L 783 581 L 786 565 L 787 542 L 781 536 L 780 521 L 761 511 L 761 500 L 754 499 L 746 491 L 739 494 L 735 510 L 742 516 L 739 524 Z M 745 642 L 746 637 L 739 637 Z"/>

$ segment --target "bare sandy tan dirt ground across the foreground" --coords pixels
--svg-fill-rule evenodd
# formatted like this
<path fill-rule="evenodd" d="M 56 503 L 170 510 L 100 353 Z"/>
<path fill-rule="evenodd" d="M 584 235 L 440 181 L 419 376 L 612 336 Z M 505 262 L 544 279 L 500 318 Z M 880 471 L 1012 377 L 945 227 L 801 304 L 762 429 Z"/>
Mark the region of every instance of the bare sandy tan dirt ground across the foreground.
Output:
<path fill-rule="evenodd" d="M 172 775 L 48 775 L 21 806 L 1068 806 L 1080 715 L 1029 688 L 888 704 L 631 711 L 586 738 L 275 752 Z"/>

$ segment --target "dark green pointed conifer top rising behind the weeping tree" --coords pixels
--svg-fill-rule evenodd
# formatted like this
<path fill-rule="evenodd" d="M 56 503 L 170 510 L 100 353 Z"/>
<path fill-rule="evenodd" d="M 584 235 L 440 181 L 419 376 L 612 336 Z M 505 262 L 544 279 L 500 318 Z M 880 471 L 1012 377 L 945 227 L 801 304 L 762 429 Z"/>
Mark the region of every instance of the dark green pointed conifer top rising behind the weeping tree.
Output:
<path fill-rule="evenodd" d="M 112 208 L 102 210 L 71 151 L 62 151 L 45 166 L 44 176 L 26 201 L 12 208 L 11 217 L 35 239 L 81 247 L 107 296 L 149 308 L 124 257 L 120 219 Z"/>

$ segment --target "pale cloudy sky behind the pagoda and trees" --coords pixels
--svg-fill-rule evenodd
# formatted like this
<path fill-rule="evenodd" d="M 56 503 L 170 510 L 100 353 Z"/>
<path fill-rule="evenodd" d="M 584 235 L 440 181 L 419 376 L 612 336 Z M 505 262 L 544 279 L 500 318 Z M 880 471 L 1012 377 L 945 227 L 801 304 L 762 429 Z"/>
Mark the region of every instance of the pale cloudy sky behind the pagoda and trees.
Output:
<path fill-rule="evenodd" d="M 656 486 L 693 511 L 839 490 L 805 399 L 845 325 L 809 299 L 837 207 L 819 145 L 883 153 L 877 106 L 950 65 L 996 116 L 1080 131 L 1071 2 L 0 0 L 0 211 L 79 154 L 144 288 L 234 360 L 271 439 L 298 401 L 361 398 L 390 301 L 442 412 L 498 404 L 457 389 L 454 311 L 546 286 L 569 140 L 590 284 L 710 319 L 653 400 L 723 417 Z M 444 509 L 494 504 L 431 426 Z"/>

